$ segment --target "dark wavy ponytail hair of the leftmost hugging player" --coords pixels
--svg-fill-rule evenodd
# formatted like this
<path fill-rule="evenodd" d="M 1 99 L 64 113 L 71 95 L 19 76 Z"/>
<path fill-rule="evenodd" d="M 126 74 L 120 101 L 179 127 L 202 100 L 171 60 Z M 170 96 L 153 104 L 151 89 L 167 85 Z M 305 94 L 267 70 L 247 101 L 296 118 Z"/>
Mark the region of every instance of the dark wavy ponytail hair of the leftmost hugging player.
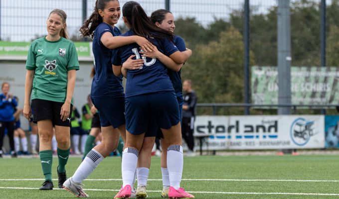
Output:
<path fill-rule="evenodd" d="M 93 38 L 95 28 L 97 28 L 98 25 L 103 22 L 103 19 L 99 14 L 99 9 L 104 10 L 107 2 L 109 1 L 111 0 L 95 1 L 94 10 L 91 16 L 89 16 L 89 18 L 84 21 L 84 23 L 79 29 L 83 36 L 91 36 Z"/>

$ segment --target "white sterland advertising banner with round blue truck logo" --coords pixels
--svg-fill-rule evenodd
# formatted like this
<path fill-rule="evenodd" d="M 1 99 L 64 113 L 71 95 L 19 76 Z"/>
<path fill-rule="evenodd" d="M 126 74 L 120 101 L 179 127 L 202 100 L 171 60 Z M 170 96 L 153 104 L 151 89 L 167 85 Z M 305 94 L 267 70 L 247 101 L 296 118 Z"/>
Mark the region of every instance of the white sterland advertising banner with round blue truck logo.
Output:
<path fill-rule="evenodd" d="M 197 116 L 194 136 L 204 149 L 324 148 L 323 115 Z"/>

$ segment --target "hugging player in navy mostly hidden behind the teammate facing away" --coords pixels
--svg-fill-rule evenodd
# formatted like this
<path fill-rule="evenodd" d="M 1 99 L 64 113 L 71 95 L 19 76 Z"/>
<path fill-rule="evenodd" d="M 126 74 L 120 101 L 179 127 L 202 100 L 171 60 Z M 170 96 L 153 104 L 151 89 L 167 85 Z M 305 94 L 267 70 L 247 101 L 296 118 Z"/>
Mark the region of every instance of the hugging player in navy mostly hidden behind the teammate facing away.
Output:
<path fill-rule="evenodd" d="M 158 27 L 173 32 L 175 29 L 174 24 L 174 16 L 173 14 L 166 9 L 158 9 L 154 11 L 151 15 L 151 21 L 157 25 Z M 178 48 L 179 51 L 186 51 L 185 42 L 183 39 L 177 35 L 174 36 L 174 45 Z M 162 61 L 161 57 L 164 56 L 161 52 L 159 52 L 156 48 L 152 50 L 152 52 L 143 52 L 143 56 L 149 58 L 158 58 Z M 165 64 L 166 65 L 166 64 Z M 179 113 L 180 119 L 182 112 L 182 83 L 181 83 L 181 67 L 183 64 L 179 64 L 177 66 L 174 65 L 166 65 L 169 67 L 168 75 L 173 84 L 174 92 L 176 99 L 179 104 Z M 161 147 L 162 147 L 162 155 L 161 155 L 161 170 L 163 176 L 163 192 L 162 197 L 168 197 L 169 193 L 169 172 L 167 169 L 167 148 L 169 147 L 167 143 L 164 141 L 164 136 L 161 131 L 158 131 L 157 138 L 161 139 Z M 142 149 L 139 153 L 139 159 L 143 159 L 144 161 L 138 161 L 137 167 L 137 177 L 138 177 L 138 189 L 136 195 L 147 196 L 146 194 L 146 185 L 148 180 L 149 169 L 151 166 L 151 151 L 154 146 L 154 142 L 145 141 L 148 138 L 144 139 L 144 143 Z"/>

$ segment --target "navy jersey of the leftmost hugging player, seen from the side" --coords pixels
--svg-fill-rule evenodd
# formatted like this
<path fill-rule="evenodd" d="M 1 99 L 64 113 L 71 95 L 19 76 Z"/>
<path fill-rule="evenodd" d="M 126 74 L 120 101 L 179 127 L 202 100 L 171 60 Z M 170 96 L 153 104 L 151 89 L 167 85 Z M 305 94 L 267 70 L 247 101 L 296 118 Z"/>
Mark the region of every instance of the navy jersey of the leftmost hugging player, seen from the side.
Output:
<path fill-rule="evenodd" d="M 101 36 L 105 32 L 111 32 L 113 36 L 121 35 L 119 28 L 113 28 L 107 23 L 100 23 L 94 31 L 92 50 L 95 61 L 95 76 L 91 88 L 93 99 L 124 96 L 122 76 L 116 77 L 113 74 L 112 50 L 101 42 Z"/>

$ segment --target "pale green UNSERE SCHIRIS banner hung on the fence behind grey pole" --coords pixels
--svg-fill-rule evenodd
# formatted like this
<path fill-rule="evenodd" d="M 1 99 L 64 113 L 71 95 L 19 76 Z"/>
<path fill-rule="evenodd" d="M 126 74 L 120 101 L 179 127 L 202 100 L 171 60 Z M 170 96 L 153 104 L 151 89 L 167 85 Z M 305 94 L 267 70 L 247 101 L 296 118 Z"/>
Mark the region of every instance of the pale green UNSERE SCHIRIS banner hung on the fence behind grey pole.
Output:
<path fill-rule="evenodd" d="M 277 104 L 278 68 L 253 66 L 251 69 L 252 103 Z M 338 81 L 338 67 L 291 67 L 291 102 L 338 104 Z"/>

